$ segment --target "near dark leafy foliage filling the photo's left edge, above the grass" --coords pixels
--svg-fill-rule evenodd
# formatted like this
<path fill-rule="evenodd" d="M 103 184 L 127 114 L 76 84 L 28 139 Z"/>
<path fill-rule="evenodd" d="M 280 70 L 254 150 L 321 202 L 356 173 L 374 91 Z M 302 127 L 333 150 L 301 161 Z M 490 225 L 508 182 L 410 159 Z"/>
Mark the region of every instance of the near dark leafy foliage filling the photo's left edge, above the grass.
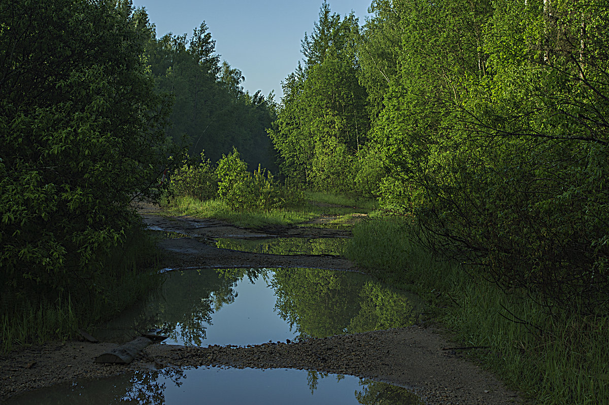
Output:
<path fill-rule="evenodd" d="M 112 1 L 10 0 L 0 21 L 0 49 L 10 49 L 0 62 L 0 295 L 5 308 L 105 297 L 107 255 L 137 228 L 131 204 L 160 195 L 176 152 L 167 99 L 142 58 L 148 33 Z"/>

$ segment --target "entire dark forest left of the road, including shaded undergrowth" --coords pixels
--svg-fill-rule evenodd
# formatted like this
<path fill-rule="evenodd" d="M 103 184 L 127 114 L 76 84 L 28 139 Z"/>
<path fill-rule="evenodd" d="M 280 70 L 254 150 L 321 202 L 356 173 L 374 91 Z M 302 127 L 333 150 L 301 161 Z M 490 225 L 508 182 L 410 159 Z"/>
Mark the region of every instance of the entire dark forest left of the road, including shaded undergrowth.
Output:
<path fill-rule="evenodd" d="M 10 0 L 0 21 L 6 350 L 68 336 L 158 284 L 137 270 L 157 255 L 133 203 L 166 195 L 163 174 L 203 150 L 275 167 L 276 105 L 243 90 L 204 22 L 157 38 L 126 0 Z"/>

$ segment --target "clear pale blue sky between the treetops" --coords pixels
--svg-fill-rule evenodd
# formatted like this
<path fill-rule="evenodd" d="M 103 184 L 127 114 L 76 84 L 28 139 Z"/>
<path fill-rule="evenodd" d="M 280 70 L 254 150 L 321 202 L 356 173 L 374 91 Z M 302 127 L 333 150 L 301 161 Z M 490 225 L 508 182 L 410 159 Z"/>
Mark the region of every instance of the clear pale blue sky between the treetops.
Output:
<path fill-rule="evenodd" d="M 319 20 L 323 0 L 133 0 L 146 7 L 157 37 L 167 32 L 188 33 L 205 21 L 216 41 L 216 53 L 245 76 L 242 84 L 250 94 L 265 96 L 275 90 L 282 95 L 281 82 L 294 71 L 300 40 L 311 34 Z M 364 24 L 371 0 L 328 0 L 333 13 L 353 11 Z"/>

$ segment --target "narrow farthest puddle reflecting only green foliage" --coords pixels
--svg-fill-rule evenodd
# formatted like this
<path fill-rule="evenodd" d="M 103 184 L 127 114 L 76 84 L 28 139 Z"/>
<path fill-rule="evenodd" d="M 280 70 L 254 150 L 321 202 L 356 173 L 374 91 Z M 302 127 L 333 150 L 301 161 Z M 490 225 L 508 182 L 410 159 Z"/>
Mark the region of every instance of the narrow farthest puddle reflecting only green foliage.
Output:
<path fill-rule="evenodd" d="M 216 239 L 216 246 L 272 255 L 337 255 L 345 252 L 347 238 L 263 238 L 263 239 Z"/>

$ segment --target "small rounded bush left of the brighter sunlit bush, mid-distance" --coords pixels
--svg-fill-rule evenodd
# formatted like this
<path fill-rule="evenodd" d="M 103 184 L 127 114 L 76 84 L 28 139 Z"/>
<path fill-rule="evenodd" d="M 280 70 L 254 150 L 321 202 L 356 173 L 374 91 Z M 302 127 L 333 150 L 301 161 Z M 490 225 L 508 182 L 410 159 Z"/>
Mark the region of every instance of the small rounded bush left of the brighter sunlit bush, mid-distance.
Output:
<path fill-rule="evenodd" d="M 171 174 L 169 190 L 177 197 L 189 196 L 199 200 L 208 200 L 216 196 L 218 179 L 211 167 L 211 161 L 205 160 L 201 152 L 199 163 L 193 163 L 185 157 L 183 165 Z"/>

